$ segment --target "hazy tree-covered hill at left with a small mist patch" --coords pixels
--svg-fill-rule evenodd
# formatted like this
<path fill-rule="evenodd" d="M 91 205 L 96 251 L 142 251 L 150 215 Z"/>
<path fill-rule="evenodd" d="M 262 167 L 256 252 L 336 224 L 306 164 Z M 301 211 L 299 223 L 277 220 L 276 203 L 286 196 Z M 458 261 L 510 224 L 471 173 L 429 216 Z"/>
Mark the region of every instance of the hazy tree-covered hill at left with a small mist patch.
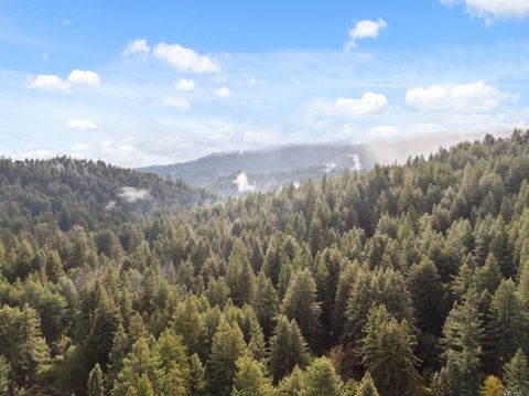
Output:
<path fill-rule="evenodd" d="M 115 224 L 154 211 L 190 208 L 208 199 L 180 180 L 101 161 L 0 159 L 0 226 L 14 232 L 54 222 L 62 231 L 74 225 L 93 229 L 98 222 Z"/>

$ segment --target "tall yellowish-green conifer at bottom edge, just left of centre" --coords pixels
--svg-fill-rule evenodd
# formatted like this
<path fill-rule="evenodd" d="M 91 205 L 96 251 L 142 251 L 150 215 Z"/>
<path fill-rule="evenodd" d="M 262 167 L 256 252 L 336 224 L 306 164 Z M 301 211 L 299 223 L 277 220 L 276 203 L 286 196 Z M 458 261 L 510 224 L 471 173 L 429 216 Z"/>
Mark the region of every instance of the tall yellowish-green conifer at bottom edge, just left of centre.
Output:
<path fill-rule="evenodd" d="M 236 362 L 246 349 L 245 339 L 237 323 L 222 320 L 213 338 L 212 353 L 207 361 L 207 389 L 210 395 L 229 395 L 237 371 Z"/>

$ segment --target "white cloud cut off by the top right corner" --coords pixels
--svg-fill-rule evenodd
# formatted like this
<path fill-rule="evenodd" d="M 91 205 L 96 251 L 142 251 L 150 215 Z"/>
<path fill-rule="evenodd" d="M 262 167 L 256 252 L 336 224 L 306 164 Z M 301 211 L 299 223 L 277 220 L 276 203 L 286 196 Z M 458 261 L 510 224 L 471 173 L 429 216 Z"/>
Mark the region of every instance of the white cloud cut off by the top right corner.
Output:
<path fill-rule="evenodd" d="M 487 22 L 494 19 L 523 19 L 529 17 L 527 0 L 441 0 L 443 4 L 464 3 L 468 13 L 484 18 Z"/>

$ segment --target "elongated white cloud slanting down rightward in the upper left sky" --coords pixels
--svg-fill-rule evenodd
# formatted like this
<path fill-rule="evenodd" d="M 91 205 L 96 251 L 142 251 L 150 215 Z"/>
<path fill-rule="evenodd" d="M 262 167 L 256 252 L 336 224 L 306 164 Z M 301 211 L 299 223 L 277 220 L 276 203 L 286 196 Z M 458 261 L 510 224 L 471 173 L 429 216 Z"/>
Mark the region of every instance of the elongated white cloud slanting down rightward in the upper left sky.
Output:
<path fill-rule="evenodd" d="M 159 43 L 154 49 L 154 55 L 181 72 L 207 73 L 220 69 L 209 56 L 201 55 L 180 44 Z"/>

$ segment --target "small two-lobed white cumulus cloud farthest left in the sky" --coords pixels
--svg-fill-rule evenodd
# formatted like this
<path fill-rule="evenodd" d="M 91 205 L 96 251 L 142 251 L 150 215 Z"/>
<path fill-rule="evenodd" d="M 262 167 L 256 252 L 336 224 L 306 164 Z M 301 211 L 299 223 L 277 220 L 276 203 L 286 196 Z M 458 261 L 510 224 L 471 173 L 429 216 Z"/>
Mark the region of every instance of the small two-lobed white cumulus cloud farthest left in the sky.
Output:
<path fill-rule="evenodd" d="M 99 86 L 101 78 L 91 71 L 74 69 L 65 79 L 54 74 L 39 74 L 30 77 L 26 87 L 30 89 L 69 93 L 74 86 Z"/>

